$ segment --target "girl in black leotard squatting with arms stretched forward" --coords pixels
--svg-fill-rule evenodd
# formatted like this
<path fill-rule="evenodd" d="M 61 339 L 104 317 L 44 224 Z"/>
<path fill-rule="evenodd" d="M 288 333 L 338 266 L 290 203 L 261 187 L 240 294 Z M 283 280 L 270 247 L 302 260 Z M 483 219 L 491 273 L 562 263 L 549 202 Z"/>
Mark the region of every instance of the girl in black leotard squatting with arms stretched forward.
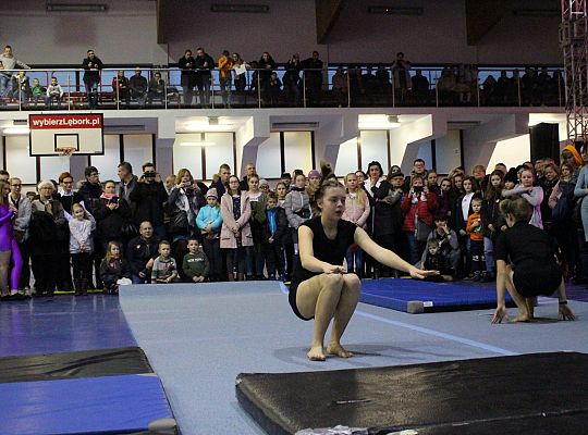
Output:
<path fill-rule="evenodd" d="M 357 244 L 376 261 L 407 272 L 415 278 L 438 273 L 408 264 L 372 241 L 363 228 L 343 221 L 345 195 L 345 189 L 335 179 L 326 181 L 317 197 L 321 214 L 298 228 L 299 258 L 294 265 L 289 299 L 298 318 L 315 319 L 313 341 L 307 353 L 311 361 L 326 360 L 323 341 L 331 319 L 334 321 L 327 352 L 342 358 L 353 356 L 340 343 L 357 306 L 362 286 L 357 275 L 346 273 L 343 266 L 351 245 Z"/>

